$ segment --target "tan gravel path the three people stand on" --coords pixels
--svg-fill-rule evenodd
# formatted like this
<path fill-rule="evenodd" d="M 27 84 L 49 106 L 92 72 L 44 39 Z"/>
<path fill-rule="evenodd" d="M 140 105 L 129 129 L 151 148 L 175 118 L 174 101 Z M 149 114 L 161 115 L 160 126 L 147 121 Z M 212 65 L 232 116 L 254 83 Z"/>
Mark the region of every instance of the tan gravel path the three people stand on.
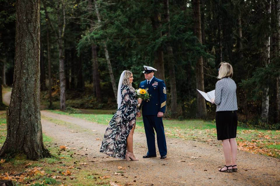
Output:
<path fill-rule="evenodd" d="M 41 114 L 45 118 L 42 126 L 46 135 L 53 137 L 58 145 L 77 149 L 77 154 L 87 157 L 89 169 L 98 169 L 100 174 L 111 176 L 111 180 L 120 184 L 280 185 L 280 159 L 277 158 L 239 151 L 238 172 L 221 173 L 218 167 L 224 164 L 224 157 L 220 142 L 207 144 L 167 137 L 166 160 L 161 160 L 160 156 L 143 159 L 147 151 L 146 137 L 135 129 L 134 154 L 139 161 L 127 162 L 99 152 L 106 126 L 48 111 L 41 111 Z M 66 123 L 58 125 L 48 118 Z M 98 138 L 101 140 L 96 140 Z M 124 176 L 113 175 L 118 166 L 127 168 Z"/>

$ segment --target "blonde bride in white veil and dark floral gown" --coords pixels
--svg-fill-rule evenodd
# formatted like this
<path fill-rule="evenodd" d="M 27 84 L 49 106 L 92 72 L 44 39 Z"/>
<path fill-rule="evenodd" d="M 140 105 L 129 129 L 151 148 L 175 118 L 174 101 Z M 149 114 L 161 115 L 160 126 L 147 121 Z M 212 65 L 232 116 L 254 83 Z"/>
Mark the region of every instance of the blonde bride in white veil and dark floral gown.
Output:
<path fill-rule="evenodd" d="M 102 153 L 127 161 L 138 160 L 133 154 L 133 133 L 136 115 L 140 117 L 137 104 L 141 99 L 136 99 L 132 82 L 132 72 L 123 71 L 118 86 L 118 110 L 108 124 L 100 148 Z"/>

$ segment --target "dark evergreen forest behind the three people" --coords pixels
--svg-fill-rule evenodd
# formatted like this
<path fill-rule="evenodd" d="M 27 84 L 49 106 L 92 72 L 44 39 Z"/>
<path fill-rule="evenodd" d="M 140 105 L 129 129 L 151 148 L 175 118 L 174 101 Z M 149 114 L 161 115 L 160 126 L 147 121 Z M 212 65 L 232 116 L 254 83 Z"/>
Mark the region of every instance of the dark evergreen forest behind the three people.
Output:
<path fill-rule="evenodd" d="M 0 3 L 0 83 L 11 86 L 15 1 Z M 225 61 L 240 124 L 280 129 L 279 0 L 42 0 L 40 14 L 42 108 L 114 109 L 121 72 L 138 87 L 148 65 L 166 82 L 166 118 L 214 119 L 195 89 L 213 90 Z"/>

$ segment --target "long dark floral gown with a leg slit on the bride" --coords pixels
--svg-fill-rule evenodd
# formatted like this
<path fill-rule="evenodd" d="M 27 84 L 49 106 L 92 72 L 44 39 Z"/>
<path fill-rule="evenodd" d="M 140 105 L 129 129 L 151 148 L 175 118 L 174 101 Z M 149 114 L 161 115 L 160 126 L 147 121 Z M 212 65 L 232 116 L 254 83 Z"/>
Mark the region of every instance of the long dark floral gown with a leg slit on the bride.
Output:
<path fill-rule="evenodd" d="M 111 157 L 125 159 L 126 140 L 136 121 L 136 94 L 122 85 L 122 103 L 113 115 L 104 134 L 100 152 Z"/>

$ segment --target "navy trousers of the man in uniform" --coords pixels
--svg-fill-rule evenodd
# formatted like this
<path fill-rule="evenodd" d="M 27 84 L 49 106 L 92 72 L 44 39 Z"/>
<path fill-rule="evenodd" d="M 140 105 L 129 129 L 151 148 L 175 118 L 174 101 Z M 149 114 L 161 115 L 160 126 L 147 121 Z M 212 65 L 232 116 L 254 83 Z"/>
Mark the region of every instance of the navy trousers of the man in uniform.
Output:
<path fill-rule="evenodd" d="M 166 147 L 162 117 L 157 117 L 156 115 L 143 116 L 143 123 L 144 123 L 147 145 L 148 145 L 147 155 L 156 155 L 155 132 L 157 133 L 157 147 L 158 150 L 160 151 L 160 155 L 162 156 L 166 155 L 167 147 Z"/>

